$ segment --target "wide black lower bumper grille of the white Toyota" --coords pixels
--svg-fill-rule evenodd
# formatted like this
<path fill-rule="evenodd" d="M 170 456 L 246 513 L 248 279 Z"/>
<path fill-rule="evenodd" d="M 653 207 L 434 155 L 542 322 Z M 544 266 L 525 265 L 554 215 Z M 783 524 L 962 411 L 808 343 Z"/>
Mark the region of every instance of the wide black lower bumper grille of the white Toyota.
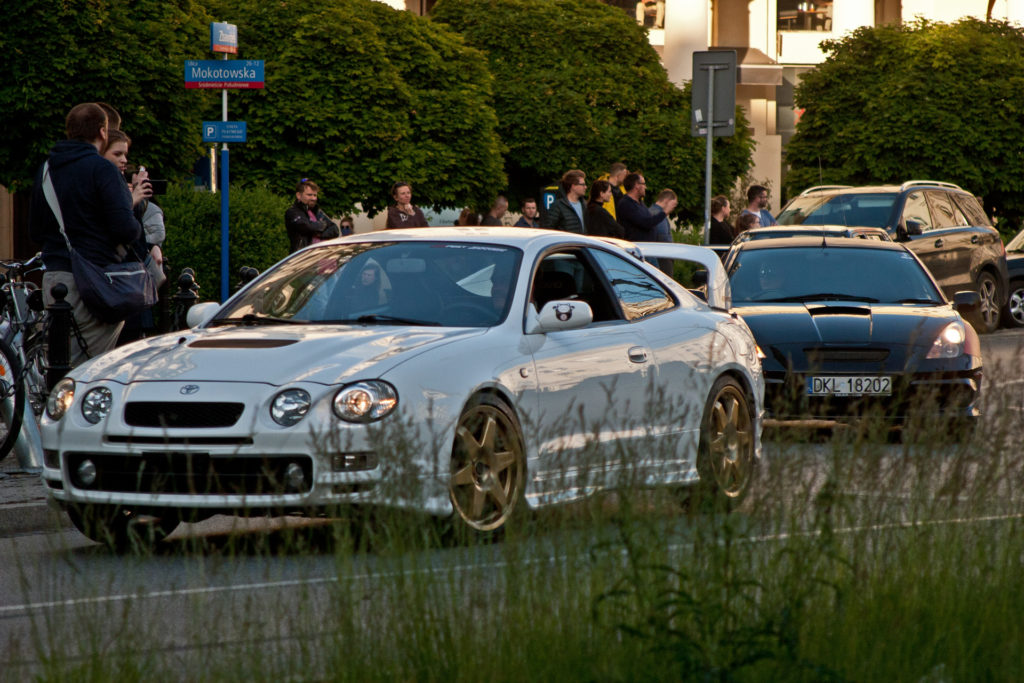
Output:
<path fill-rule="evenodd" d="M 309 456 L 223 457 L 204 453 L 143 453 L 140 456 L 101 453 L 65 454 L 68 472 L 78 488 L 126 494 L 178 494 L 191 496 L 268 496 L 306 493 L 312 487 Z M 78 466 L 91 460 L 96 480 L 84 485 Z M 303 481 L 289 485 L 285 470 L 302 468 Z"/>

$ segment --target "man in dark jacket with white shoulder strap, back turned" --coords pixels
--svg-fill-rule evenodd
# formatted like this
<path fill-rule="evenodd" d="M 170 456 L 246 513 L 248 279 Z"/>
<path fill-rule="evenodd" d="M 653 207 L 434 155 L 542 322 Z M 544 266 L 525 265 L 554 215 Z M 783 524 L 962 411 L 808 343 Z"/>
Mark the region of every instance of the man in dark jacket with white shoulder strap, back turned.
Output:
<path fill-rule="evenodd" d="M 96 103 L 78 104 L 65 121 L 66 140 L 50 150 L 49 178 L 63 218 L 65 232 L 72 247 L 86 260 L 105 267 L 120 263 L 124 246 L 142 233 L 142 226 L 132 214 L 128 185 L 118 168 L 99 156 L 106 143 L 106 113 Z M 50 289 L 57 284 L 68 288 L 65 300 L 85 341 L 82 348 L 76 338 L 72 343 L 72 365 L 114 348 L 124 323 L 101 323 L 85 306 L 71 269 L 68 242 L 60 233 L 56 216 L 43 194 L 43 168 L 36 174 L 29 213 L 32 239 L 43 246 L 43 297 L 53 303 Z"/>

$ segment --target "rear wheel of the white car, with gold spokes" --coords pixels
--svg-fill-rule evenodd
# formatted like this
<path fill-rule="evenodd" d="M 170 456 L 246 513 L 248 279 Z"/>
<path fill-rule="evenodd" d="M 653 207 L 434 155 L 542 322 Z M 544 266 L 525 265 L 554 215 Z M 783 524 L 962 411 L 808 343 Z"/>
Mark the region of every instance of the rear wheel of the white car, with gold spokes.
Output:
<path fill-rule="evenodd" d="M 757 467 L 756 420 L 739 383 L 728 376 L 718 378 L 700 420 L 696 493 L 701 505 L 732 509 L 746 497 Z"/>

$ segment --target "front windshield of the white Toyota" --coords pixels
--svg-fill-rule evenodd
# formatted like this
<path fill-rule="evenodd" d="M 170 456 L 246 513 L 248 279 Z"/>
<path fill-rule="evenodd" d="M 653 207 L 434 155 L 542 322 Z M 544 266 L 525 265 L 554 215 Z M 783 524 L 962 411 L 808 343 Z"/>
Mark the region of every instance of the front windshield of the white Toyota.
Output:
<path fill-rule="evenodd" d="M 475 243 L 329 243 L 261 275 L 210 325 L 489 327 L 508 313 L 521 256 Z"/>

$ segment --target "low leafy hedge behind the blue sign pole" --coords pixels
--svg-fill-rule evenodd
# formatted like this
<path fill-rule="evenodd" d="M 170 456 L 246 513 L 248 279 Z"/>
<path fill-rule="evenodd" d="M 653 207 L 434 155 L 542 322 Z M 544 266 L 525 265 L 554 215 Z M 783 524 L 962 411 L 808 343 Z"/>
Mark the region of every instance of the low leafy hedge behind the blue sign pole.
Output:
<path fill-rule="evenodd" d="M 232 188 L 229 195 L 229 289 L 245 265 L 263 270 L 288 255 L 285 211 L 291 198 L 263 186 Z M 167 223 L 164 255 L 171 286 L 185 266 L 196 271 L 201 300 L 220 298 L 220 195 L 171 185 L 161 198 Z"/>

